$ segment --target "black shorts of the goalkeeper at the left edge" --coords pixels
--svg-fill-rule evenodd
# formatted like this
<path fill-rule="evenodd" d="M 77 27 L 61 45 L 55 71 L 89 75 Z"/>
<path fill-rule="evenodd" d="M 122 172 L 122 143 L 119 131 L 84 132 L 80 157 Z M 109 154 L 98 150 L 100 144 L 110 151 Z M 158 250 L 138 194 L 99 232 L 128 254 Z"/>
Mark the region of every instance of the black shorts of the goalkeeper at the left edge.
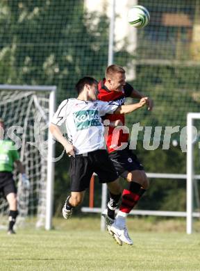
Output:
<path fill-rule="evenodd" d="M 0 192 L 6 197 L 10 193 L 17 193 L 15 181 L 11 172 L 0 172 Z"/>

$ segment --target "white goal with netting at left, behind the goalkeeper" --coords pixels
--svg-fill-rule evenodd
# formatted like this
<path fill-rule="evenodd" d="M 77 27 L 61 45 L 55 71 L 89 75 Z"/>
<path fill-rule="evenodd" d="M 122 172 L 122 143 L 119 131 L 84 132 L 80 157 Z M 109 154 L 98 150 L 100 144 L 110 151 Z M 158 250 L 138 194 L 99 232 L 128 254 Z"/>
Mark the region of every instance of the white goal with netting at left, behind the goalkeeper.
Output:
<path fill-rule="evenodd" d="M 0 117 L 6 126 L 3 138 L 14 142 L 30 181 L 30 188 L 24 188 L 21 174 L 14 171 L 18 224 L 34 217 L 33 221 L 40 227 L 44 226 L 46 218 L 48 227 L 47 206 L 51 208 L 51 204 L 47 202 L 48 197 L 51 200 L 52 183 L 49 190 L 47 179 L 52 181 L 53 178 L 53 165 L 50 158 L 48 161 L 48 154 L 52 155 L 53 148 L 53 144 L 49 145 L 52 138 L 49 138 L 48 124 L 53 114 L 55 90 L 54 86 L 0 85 Z M 8 203 L 3 197 L 0 197 L 0 221 L 1 225 L 8 223 Z"/>

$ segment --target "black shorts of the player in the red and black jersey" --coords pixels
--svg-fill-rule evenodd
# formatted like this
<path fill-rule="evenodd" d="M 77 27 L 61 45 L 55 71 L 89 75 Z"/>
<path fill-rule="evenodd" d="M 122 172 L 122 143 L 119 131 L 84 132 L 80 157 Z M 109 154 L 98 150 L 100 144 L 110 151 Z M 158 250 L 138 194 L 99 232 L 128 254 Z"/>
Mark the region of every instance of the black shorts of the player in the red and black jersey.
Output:
<path fill-rule="evenodd" d="M 122 176 L 124 179 L 126 179 L 127 172 L 144 170 L 144 167 L 140 161 L 138 161 L 137 156 L 133 154 L 133 151 L 128 149 L 128 147 L 126 147 L 126 149 L 111 152 L 109 158 L 113 162 L 119 176 Z"/>

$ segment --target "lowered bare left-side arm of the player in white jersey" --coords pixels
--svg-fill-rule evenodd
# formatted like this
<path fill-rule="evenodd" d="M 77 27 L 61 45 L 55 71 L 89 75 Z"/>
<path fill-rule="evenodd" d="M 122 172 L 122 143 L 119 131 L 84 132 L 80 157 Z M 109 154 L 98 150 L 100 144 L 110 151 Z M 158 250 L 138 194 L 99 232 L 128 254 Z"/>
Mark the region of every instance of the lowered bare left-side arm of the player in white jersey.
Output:
<path fill-rule="evenodd" d="M 55 124 L 50 124 L 49 130 L 51 131 L 52 135 L 60 144 L 63 145 L 65 148 L 67 154 L 74 156 L 75 155 L 75 148 L 72 144 L 68 142 L 68 140 L 63 136 L 63 134 L 60 131 L 60 128 Z"/>

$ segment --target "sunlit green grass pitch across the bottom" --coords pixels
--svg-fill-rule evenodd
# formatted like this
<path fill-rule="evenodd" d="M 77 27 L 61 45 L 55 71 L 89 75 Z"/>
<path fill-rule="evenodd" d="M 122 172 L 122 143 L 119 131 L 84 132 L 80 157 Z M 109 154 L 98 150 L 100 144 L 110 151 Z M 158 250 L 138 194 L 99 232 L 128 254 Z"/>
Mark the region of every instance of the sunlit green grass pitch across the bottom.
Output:
<path fill-rule="evenodd" d="M 97 217 L 57 219 L 49 232 L 18 229 L 16 236 L 7 236 L 0 231 L 0 270 L 199 270 L 199 233 L 187 236 L 172 225 L 158 230 L 159 223 L 129 219 L 134 245 L 122 247 L 99 231 Z M 142 224 L 157 224 L 157 230 Z"/>

